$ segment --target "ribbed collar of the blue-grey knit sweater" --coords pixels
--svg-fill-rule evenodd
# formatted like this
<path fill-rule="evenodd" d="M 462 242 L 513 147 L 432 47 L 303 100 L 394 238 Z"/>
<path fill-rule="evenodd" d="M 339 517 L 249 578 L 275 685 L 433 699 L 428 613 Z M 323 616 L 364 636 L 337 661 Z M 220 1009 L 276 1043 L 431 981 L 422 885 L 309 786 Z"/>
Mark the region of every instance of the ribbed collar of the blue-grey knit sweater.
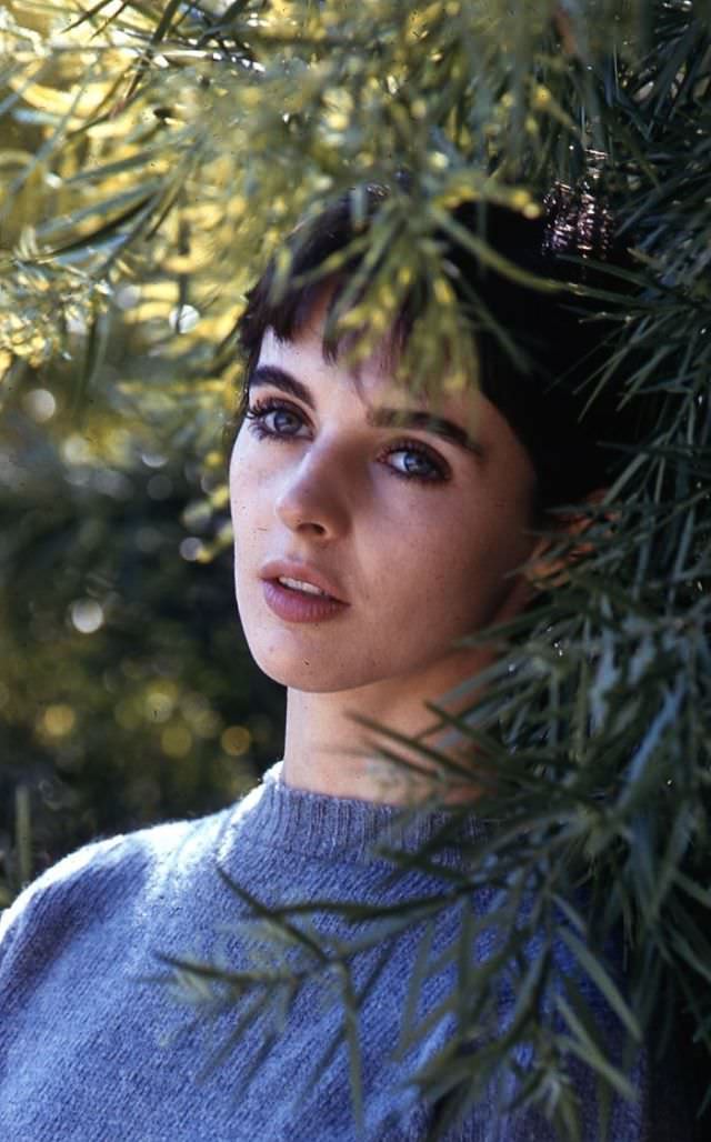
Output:
<path fill-rule="evenodd" d="M 443 829 L 451 827 L 454 814 L 445 810 L 404 811 L 399 806 L 352 797 L 310 793 L 285 783 L 283 763 L 269 769 L 262 782 L 232 811 L 221 844 L 221 860 L 228 861 L 233 849 L 247 843 L 282 850 L 294 855 L 344 859 L 349 862 L 387 860 L 380 846 L 401 852 L 422 850 Z M 491 836 L 491 825 L 468 814 L 459 817 L 460 836 L 471 843 Z M 438 852 L 437 863 L 458 866 L 457 847 Z"/>

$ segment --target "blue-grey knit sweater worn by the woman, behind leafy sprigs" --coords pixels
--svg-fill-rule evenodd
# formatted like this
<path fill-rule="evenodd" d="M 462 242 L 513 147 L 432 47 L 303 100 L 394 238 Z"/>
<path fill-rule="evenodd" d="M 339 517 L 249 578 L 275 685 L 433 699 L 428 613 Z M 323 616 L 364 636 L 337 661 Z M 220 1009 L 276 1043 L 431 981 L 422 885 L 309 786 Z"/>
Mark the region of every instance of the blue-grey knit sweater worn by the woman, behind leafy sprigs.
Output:
<path fill-rule="evenodd" d="M 421 931 L 390 941 L 383 935 L 352 962 L 354 986 L 367 989 L 358 1028 L 359 1134 L 338 973 L 307 981 L 288 1005 L 275 984 L 231 996 L 224 986 L 188 980 L 186 992 L 157 956 L 218 962 L 236 972 L 289 966 L 308 973 L 314 959 L 307 947 L 280 954 L 274 941 L 250 935 L 244 918 L 253 914 L 229 880 L 265 903 L 320 898 L 387 904 L 443 892 L 438 876 L 412 870 L 394 878 L 393 866 L 373 855 L 373 842 L 393 820 L 388 806 L 292 789 L 277 765 L 236 806 L 98 842 L 41 876 L 0 927 L 0 1140 L 431 1137 L 437 1107 L 406 1077 L 413 1063 L 426 1063 L 446 1044 L 451 1016 L 435 1016 L 404 1053 L 394 1049 Z M 414 849 L 436 825 L 434 815 L 422 817 L 398 843 Z M 328 912 L 302 920 L 304 932 L 308 923 L 331 947 L 366 933 Z M 443 966 L 426 986 L 423 1016 L 452 986 L 455 962 L 442 952 L 460 924 L 455 904 L 438 920 L 430 959 L 439 957 Z M 515 998 L 502 997 L 501 1029 Z M 592 995 L 591 1006 L 613 1051 L 616 1022 L 599 997 Z M 573 1073 L 584 1142 L 595 1142 L 595 1078 L 582 1062 Z M 633 1070 L 639 1099 L 615 1103 L 613 1137 L 678 1142 L 687 1136 L 680 1109 L 672 1111 L 662 1097 L 652 1112 L 646 1075 L 643 1055 Z M 492 1095 L 469 1108 L 446 1137 L 543 1142 L 555 1135 L 541 1113 L 496 1112 Z"/>

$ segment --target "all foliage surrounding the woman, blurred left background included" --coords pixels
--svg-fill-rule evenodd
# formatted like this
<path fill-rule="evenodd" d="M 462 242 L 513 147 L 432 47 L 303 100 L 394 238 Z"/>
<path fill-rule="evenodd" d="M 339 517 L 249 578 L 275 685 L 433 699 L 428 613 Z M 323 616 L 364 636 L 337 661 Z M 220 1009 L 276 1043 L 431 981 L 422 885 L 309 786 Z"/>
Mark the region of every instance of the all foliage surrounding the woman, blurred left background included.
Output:
<path fill-rule="evenodd" d="M 559 180 L 583 220 L 604 195 L 633 235 L 633 301 L 601 298 L 621 321 L 611 362 L 660 411 L 589 556 L 522 617 L 459 726 L 510 826 L 463 891 L 530 877 L 555 933 L 584 880 L 585 947 L 625 933 L 628 1026 L 684 1010 L 708 1081 L 710 16 L 708 0 L 0 10 L 0 904 L 79 842 L 224 804 L 278 756 L 283 695 L 234 616 L 223 437 L 244 290 L 284 235 L 345 191 L 357 222 L 366 184 L 390 188 L 350 319 L 378 336 L 422 278 L 414 384 L 462 344 L 433 241 L 447 211 L 533 216 Z M 534 935 L 510 933 L 503 973 Z M 452 997 L 463 1028 L 477 988 L 496 1002 L 477 971 Z M 567 1129 L 536 996 L 528 1094 Z"/>

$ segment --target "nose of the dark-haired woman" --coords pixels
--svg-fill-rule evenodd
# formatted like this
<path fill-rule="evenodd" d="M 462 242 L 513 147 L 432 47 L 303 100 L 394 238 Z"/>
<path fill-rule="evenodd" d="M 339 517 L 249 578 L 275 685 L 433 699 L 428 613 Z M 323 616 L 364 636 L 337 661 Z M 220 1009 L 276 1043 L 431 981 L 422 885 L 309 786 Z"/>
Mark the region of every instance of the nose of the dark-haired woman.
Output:
<path fill-rule="evenodd" d="M 346 457 L 333 443 L 314 445 L 284 475 L 275 512 L 292 531 L 312 529 L 322 536 L 345 534 L 350 513 Z"/>

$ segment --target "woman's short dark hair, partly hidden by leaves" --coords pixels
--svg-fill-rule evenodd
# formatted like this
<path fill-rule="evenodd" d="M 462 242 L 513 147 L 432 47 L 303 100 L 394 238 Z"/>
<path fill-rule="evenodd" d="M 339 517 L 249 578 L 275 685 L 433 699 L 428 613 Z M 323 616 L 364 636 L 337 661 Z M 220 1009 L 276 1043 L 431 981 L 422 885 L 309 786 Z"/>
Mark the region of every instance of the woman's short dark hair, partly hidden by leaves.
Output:
<path fill-rule="evenodd" d="M 293 340 L 326 288 L 332 311 L 362 262 L 362 246 L 353 256 L 348 247 L 372 223 L 387 196 L 383 187 L 366 188 L 365 222 L 357 227 L 349 194 L 302 223 L 288 239 L 292 263 L 285 287 L 275 289 L 273 259 L 249 291 L 239 327 L 247 372 L 237 419 L 247 407 L 265 332 L 270 329 L 280 340 Z M 559 283 L 551 291 L 523 286 L 484 265 L 450 232 L 433 235 L 458 304 L 470 321 L 480 389 L 506 417 L 533 461 L 538 508 L 579 502 L 609 485 L 641 434 L 635 409 L 630 403 L 620 404 L 622 379 L 613 371 L 604 384 L 596 384 L 609 364 L 611 339 L 619 336 L 620 303 L 607 312 L 605 303 L 576 289 L 582 286 L 629 293 L 629 286 L 621 287 L 620 279 L 605 272 L 606 265 L 630 270 L 628 250 L 615 240 L 607 211 L 590 194 L 573 194 L 563 185 L 547 195 L 534 218 L 478 202 L 459 206 L 451 217 L 485 239 L 514 266 Z M 318 276 L 318 267 L 338 251 L 346 251 L 344 264 L 334 273 Z M 378 264 L 373 272 L 377 270 Z M 306 283 L 300 283 L 301 279 Z M 406 344 L 423 309 L 425 293 L 422 283 L 414 281 L 405 295 L 391 335 L 399 346 Z M 524 367 L 520 355 L 515 359 L 500 337 L 480 328 L 472 295 L 523 349 Z M 338 349 L 338 341 L 324 343 L 326 357 L 334 359 Z"/>

